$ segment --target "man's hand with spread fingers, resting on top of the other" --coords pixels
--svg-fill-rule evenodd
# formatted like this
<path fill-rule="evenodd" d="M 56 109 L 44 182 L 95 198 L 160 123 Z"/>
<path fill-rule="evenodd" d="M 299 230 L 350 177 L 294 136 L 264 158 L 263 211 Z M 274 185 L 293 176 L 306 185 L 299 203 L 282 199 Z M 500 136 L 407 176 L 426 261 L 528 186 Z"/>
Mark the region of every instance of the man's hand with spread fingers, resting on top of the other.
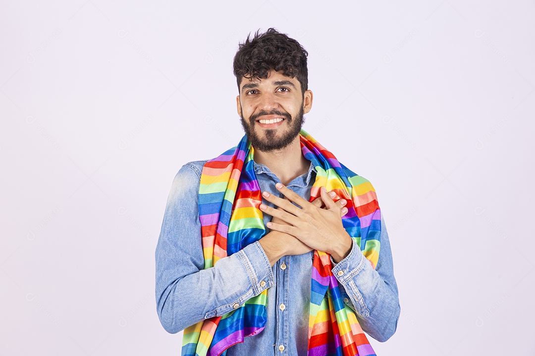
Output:
<path fill-rule="evenodd" d="M 345 258 L 353 240 L 342 226 L 341 216 L 347 213 L 347 208 L 340 208 L 345 204 L 345 200 L 339 200 L 338 204 L 327 194 L 325 187 L 320 189 L 320 197 L 326 209 L 319 208 L 321 204 L 308 202 L 298 194 L 291 191 L 282 184 L 277 184 L 277 189 L 287 198 L 264 192 L 264 199 L 277 205 L 274 209 L 265 204 L 260 205 L 260 209 L 269 215 L 284 221 L 271 221 L 268 227 L 271 230 L 286 233 L 299 239 L 312 249 L 325 251 L 331 254 L 335 262 L 340 262 Z M 289 200 L 289 201 L 288 201 Z M 317 199 L 316 199 L 317 200 Z M 299 205 L 296 207 L 291 202 Z M 343 210 L 342 210 L 343 209 Z"/>

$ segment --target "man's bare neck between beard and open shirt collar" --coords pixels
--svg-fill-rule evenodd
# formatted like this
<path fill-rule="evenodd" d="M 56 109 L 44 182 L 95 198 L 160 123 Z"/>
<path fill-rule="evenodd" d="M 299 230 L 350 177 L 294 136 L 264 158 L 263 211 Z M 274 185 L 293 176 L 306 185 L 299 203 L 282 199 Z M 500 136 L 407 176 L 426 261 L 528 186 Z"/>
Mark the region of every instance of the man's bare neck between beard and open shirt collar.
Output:
<path fill-rule="evenodd" d="M 291 144 L 277 151 L 263 152 L 255 149 L 254 160 L 268 167 L 284 185 L 307 173 L 310 167 L 310 161 L 305 159 L 301 151 L 299 135 Z"/>

